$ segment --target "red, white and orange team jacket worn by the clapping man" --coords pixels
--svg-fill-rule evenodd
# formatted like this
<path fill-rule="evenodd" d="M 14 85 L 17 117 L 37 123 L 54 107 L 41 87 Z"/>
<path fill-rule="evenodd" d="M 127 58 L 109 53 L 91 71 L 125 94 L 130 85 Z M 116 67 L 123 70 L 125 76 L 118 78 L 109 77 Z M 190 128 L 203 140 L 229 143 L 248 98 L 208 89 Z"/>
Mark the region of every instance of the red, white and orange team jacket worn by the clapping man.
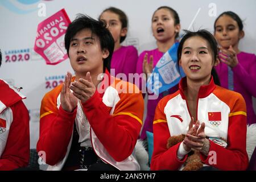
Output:
<path fill-rule="evenodd" d="M 132 154 L 142 127 L 144 102 L 139 89 L 125 81 L 106 77 L 94 95 L 82 104 L 90 124 L 90 138 L 96 154 L 106 163 L 120 170 L 139 170 Z M 73 77 L 73 80 L 75 77 Z M 49 170 L 61 170 L 67 159 L 77 108 L 73 113 L 60 105 L 62 85 L 44 96 L 40 110 L 40 137 L 38 151 L 46 154 Z M 127 93 L 134 90 L 135 93 Z"/>

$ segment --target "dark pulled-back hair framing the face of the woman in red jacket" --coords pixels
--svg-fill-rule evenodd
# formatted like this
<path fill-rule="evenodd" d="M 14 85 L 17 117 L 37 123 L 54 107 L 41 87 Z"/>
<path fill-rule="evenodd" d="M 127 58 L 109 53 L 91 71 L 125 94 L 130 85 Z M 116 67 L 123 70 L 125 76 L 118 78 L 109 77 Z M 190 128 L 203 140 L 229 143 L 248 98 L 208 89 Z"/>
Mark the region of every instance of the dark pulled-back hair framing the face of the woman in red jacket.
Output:
<path fill-rule="evenodd" d="M 208 45 L 210 46 L 210 49 L 212 49 L 212 59 L 213 63 L 216 63 L 216 60 L 218 59 L 218 52 L 220 51 L 220 48 L 218 47 L 218 43 L 214 36 L 207 30 L 199 30 L 196 32 L 184 30 L 185 35 L 183 38 L 180 40 L 179 47 L 177 49 L 177 60 L 179 61 L 181 59 L 181 53 L 182 53 L 182 48 L 184 42 L 188 38 L 192 38 L 193 36 L 199 36 L 200 38 L 203 38 L 204 40 L 207 41 Z"/>

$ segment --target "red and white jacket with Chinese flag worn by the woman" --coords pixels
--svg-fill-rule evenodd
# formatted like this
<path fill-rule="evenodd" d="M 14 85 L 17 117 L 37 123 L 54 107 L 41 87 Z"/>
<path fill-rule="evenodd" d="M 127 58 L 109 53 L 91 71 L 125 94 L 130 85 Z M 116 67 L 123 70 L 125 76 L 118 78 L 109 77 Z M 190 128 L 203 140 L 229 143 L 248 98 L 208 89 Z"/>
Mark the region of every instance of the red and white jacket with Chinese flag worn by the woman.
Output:
<path fill-rule="evenodd" d="M 183 166 L 187 155 L 177 159 L 180 143 L 167 149 L 170 136 L 186 134 L 191 115 L 184 95 L 187 88 L 186 77 L 180 81 L 176 93 L 160 100 L 154 118 L 154 151 L 152 170 L 178 170 Z M 200 87 L 197 97 L 197 118 L 205 122 L 207 137 L 224 138 L 226 148 L 210 140 L 209 154 L 201 154 L 201 161 L 220 170 L 245 170 L 248 165 L 246 152 L 246 105 L 241 94 L 214 84 Z M 216 157 L 215 160 L 213 157 Z"/>

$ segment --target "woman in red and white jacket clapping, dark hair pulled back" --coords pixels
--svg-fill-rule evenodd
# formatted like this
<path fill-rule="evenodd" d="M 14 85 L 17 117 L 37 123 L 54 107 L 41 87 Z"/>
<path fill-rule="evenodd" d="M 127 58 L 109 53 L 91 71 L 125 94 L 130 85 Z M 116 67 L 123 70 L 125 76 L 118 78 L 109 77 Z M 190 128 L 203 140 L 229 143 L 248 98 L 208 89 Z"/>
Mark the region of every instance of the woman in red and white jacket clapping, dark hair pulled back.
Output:
<path fill-rule="evenodd" d="M 201 170 L 247 168 L 245 100 L 214 84 L 217 55 L 216 39 L 208 31 L 188 31 L 181 39 L 177 57 L 186 77 L 156 107 L 152 170 L 183 169 L 191 150 L 200 152 Z M 168 138 L 180 134 L 185 134 L 183 142 L 167 148 Z"/>

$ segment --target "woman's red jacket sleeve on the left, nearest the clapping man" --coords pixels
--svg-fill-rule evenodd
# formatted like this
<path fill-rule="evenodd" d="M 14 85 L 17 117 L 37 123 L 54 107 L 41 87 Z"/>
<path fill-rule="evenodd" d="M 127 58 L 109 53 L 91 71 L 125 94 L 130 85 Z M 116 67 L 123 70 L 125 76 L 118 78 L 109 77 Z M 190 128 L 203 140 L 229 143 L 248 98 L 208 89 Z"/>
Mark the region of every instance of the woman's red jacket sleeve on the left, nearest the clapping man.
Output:
<path fill-rule="evenodd" d="M 168 97 L 168 96 L 167 96 Z M 177 150 L 180 143 L 167 148 L 167 141 L 170 138 L 166 115 L 164 114 L 164 106 L 166 100 L 170 98 L 164 97 L 160 100 L 155 110 L 155 118 L 153 122 L 154 131 L 154 151 L 152 154 L 151 170 L 177 170 L 185 162 L 188 155 L 182 160 L 177 159 Z"/>

